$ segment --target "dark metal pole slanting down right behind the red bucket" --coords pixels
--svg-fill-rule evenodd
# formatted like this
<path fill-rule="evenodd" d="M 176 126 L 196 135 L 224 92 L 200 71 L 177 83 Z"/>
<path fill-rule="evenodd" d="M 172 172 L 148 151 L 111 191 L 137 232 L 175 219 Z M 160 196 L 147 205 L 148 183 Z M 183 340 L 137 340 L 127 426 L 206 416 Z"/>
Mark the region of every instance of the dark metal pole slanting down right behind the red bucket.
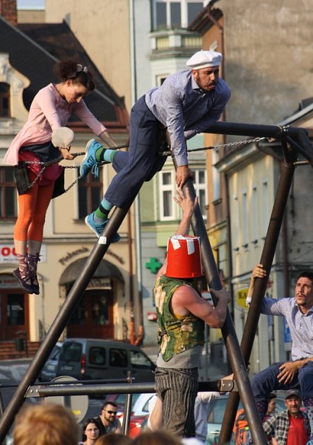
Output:
<path fill-rule="evenodd" d="M 196 196 L 196 193 L 194 191 L 194 184 L 192 184 L 191 179 L 188 179 L 186 184 L 184 184 L 184 189 L 186 188 L 189 189 L 191 197 Z M 201 239 L 201 260 L 208 285 L 212 289 L 220 290 L 222 288 L 222 284 L 220 283 L 220 275 L 215 264 L 213 251 L 208 240 L 206 226 L 204 225 L 199 206 L 197 206 L 191 219 L 191 226 L 194 230 L 194 235 L 199 236 Z M 213 302 L 214 304 L 217 303 L 214 297 Z M 262 427 L 259 412 L 256 409 L 247 367 L 242 357 L 242 352 L 240 350 L 240 345 L 236 336 L 235 327 L 232 323 L 232 318 L 230 316 L 229 310 L 227 311 L 227 316 L 222 328 L 222 333 L 228 351 L 230 365 L 232 367 L 232 371 L 235 374 L 237 387 L 242 398 L 242 404 L 244 405 L 244 410 L 247 414 L 247 419 L 252 431 L 254 444 L 266 445 L 268 442 L 266 440 L 264 429 Z"/>

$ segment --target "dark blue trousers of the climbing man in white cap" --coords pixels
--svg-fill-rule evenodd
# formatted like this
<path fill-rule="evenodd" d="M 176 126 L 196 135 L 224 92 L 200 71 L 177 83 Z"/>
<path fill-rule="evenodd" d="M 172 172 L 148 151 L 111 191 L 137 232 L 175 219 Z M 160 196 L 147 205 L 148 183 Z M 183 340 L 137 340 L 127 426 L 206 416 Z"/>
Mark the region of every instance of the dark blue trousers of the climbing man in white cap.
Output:
<path fill-rule="evenodd" d="M 160 125 L 144 97 L 138 99 L 131 109 L 129 151 L 118 151 L 112 162 L 117 174 L 105 199 L 113 206 L 123 208 L 132 203 L 143 182 L 162 169 L 166 156 L 159 155 Z"/>

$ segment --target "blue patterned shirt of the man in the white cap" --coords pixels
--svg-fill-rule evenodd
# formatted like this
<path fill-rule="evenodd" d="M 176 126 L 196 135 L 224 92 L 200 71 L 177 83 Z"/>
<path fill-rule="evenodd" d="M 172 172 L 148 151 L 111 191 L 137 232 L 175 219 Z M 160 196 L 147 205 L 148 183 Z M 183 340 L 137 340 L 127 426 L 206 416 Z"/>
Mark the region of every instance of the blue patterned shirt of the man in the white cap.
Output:
<path fill-rule="evenodd" d="M 181 166 L 188 165 L 185 138 L 203 133 L 220 119 L 230 99 L 230 88 L 218 79 L 214 90 L 204 92 L 188 69 L 167 77 L 162 86 L 148 91 L 145 98 L 150 111 L 167 127 L 172 155 Z"/>

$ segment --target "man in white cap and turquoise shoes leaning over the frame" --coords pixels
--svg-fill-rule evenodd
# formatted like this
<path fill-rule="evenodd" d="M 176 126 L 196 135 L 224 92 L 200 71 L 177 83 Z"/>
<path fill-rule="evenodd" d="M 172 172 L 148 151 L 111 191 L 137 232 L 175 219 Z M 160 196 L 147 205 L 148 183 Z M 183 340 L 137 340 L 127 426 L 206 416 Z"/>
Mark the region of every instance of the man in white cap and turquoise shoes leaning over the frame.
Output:
<path fill-rule="evenodd" d="M 88 142 L 81 175 L 96 172 L 94 167 L 102 160 L 112 162 L 117 172 L 98 209 L 86 217 L 86 224 L 98 236 L 112 207 L 129 205 L 143 182 L 162 169 L 166 156 L 160 156 L 160 145 L 165 130 L 177 165 L 177 186 L 192 177 L 186 141 L 218 121 L 230 99 L 230 88 L 219 77 L 221 61 L 219 52 L 199 51 L 187 61 L 187 70 L 172 74 L 138 99 L 131 109 L 128 152 L 103 148 L 95 140 Z"/>

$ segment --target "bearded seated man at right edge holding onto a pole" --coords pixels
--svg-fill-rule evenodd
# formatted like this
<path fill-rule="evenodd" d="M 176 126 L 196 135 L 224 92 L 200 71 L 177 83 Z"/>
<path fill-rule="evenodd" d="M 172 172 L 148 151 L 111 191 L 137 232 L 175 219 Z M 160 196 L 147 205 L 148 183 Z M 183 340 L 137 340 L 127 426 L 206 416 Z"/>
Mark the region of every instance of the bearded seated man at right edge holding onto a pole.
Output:
<path fill-rule="evenodd" d="M 252 272 L 247 304 L 253 296 L 255 279 L 265 276 L 263 266 L 257 264 Z M 292 361 L 271 364 L 252 379 L 252 391 L 261 419 L 266 414 L 269 393 L 297 388 L 301 390 L 313 431 L 313 272 L 304 271 L 297 277 L 295 297 L 264 298 L 261 313 L 285 316 L 292 339 Z"/>

